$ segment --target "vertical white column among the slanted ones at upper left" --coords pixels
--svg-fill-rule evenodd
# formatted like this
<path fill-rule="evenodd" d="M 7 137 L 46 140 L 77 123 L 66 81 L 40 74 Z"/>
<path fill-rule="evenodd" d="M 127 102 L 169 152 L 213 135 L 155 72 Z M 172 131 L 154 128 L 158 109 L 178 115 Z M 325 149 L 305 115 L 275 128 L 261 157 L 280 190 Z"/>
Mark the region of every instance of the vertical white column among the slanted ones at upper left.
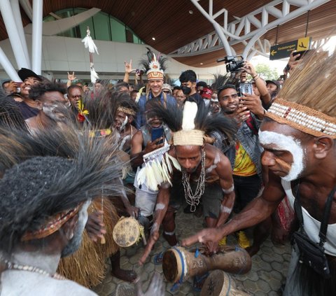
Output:
<path fill-rule="evenodd" d="M 43 0 L 33 1 L 33 36 L 31 45 L 31 70 L 41 75 L 42 64 Z"/>

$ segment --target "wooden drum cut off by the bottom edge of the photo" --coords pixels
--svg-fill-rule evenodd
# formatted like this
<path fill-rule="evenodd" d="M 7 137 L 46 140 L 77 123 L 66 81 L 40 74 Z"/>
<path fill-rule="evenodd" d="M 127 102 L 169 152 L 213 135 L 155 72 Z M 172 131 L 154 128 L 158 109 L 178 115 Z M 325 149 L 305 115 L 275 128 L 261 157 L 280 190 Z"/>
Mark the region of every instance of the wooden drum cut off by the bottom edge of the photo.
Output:
<path fill-rule="evenodd" d="M 235 281 L 223 270 L 211 272 L 201 290 L 200 296 L 248 296 L 237 290 Z"/>

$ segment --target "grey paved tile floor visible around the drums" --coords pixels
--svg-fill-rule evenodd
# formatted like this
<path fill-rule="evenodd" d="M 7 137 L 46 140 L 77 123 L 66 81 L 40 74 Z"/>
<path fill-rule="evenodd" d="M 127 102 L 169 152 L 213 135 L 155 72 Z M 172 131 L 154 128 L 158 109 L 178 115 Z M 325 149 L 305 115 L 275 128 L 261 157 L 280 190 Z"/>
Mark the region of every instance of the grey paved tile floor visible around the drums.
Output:
<path fill-rule="evenodd" d="M 201 230 L 203 227 L 202 223 L 202 218 L 196 218 L 193 214 L 183 214 L 180 209 L 176 216 L 176 233 L 180 239 L 183 239 L 184 237 L 188 237 L 190 234 Z M 251 237 L 250 234 L 248 236 Z M 228 245 L 231 244 L 237 244 L 235 236 L 232 235 L 228 237 Z M 153 256 L 167 248 L 169 248 L 169 245 L 162 237 L 160 237 L 159 241 L 153 248 L 150 258 L 147 259 L 147 262 L 143 267 L 140 267 L 137 264 L 144 249 L 142 244 L 123 249 L 121 251 L 121 266 L 124 269 L 134 269 L 139 275 L 141 275 L 143 288 L 146 290 L 153 272 L 157 271 L 162 274 L 162 266 L 153 264 Z M 237 287 L 250 295 L 277 295 L 276 291 L 279 290 L 281 283 L 283 283 L 286 278 L 286 272 L 290 260 L 289 244 L 286 246 L 274 246 L 272 241 L 267 239 L 258 254 L 253 256 L 252 259 L 252 268 L 248 274 L 240 276 L 232 275 L 232 278 L 234 278 L 237 283 Z M 133 285 L 113 278 L 110 274 L 111 267 L 109 268 L 110 270 L 106 274 L 104 282 L 95 287 L 93 290 L 100 296 L 135 295 Z M 179 290 L 176 290 L 174 293 L 171 292 L 171 288 L 172 283 L 166 283 L 165 295 L 200 295 L 199 292 L 196 292 L 193 289 L 190 280 L 183 283 L 179 287 Z M 118 293 L 116 293 L 117 290 Z"/>

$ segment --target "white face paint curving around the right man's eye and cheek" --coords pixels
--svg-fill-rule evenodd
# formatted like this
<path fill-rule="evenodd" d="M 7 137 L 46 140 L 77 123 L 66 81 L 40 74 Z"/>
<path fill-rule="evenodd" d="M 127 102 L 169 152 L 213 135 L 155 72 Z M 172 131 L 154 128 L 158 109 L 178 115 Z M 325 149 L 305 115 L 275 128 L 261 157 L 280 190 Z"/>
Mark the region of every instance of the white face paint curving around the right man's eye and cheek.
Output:
<path fill-rule="evenodd" d="M 259 141 L 262 145 L 273 144 L 276 146 L 275 148 L 286 150 L 293 156 L 293 164 L 291 164 L 289 173 L 287 176 L 281 177 L 284 181 L 293 181 L 300 176 L 304 169 L 304 150 L 299 140 L 277 132 L 259 130 Z"/>

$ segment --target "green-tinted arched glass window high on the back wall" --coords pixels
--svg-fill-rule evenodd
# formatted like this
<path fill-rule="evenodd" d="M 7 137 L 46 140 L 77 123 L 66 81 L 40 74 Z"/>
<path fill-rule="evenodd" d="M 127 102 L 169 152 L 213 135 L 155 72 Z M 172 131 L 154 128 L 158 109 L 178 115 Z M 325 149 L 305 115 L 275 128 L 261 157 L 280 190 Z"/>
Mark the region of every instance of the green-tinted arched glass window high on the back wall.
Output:
<path fill-rule="evenodd" d="M 59 18 L 71 17 L 83 13 L 85 8 L 67 8 L 59 10 L 52 15 L 44 17 L 43 22 L 50 22 Z M 57 15 L 57 17 L 55 17 Z M 115 17 L 99 11 L 93 17 L 85 20 L 67 31 L 58 34 L 58 36 L 84 38 L 86 36 L 87 26 L 90 27 L 90 34 L 95 40 L 116 41 L 123 43 L 137 43 L 145 44 L 134 32 L 127 27 L 123 22 L 117 20 Z"/>

